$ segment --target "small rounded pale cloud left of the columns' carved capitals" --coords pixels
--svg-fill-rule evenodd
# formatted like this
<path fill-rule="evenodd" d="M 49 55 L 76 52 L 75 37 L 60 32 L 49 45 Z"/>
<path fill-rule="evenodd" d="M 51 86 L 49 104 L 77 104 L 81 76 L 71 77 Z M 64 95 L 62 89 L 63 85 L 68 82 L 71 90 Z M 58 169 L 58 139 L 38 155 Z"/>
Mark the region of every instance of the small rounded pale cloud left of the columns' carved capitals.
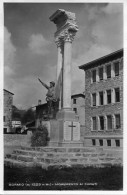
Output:
<path fill-rule="evenodd" d="M 29 39 L 28 47 L 34 54 L 45 55 L 49 52 L 47 48 L 49 44 L 50 42 L 42 34 L 33 34 Z"/>

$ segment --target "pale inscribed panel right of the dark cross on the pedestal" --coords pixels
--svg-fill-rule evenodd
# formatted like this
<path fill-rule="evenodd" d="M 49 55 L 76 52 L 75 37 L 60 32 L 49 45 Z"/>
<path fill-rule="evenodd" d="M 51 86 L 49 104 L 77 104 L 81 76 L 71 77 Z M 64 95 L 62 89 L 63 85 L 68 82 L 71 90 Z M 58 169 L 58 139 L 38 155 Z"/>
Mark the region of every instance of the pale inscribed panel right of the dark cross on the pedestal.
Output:
<path fill-rule="evenodd" d="M 80 140 L 80 123 L 73 122 L 73 141 Z"/>

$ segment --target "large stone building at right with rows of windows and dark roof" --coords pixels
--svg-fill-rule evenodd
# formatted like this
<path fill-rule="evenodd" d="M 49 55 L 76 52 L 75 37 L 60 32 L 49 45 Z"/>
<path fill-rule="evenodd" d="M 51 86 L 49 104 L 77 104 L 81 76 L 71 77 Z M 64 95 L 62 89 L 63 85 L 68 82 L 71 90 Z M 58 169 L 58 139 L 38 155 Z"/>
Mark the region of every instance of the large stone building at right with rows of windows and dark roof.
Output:
<path fill-rule="evenodd" d="M 122 147 L 123 49 L 79 68 L 85 72 L 85 145 Z"/>

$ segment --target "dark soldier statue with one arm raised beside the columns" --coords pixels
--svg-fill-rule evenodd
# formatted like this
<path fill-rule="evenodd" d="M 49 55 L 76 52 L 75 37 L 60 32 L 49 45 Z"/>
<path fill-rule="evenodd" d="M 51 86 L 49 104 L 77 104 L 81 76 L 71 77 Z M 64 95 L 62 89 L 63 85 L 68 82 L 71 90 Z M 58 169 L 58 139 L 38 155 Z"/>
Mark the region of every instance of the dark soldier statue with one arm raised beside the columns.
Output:
<path fill-rule="evenodd" d="M 44 82 L 42 82 L 39 78 L 38 80 L 46 89 L 48 89 L 48 92 L 46 94 L 46 101 L 48 104 L 48 116 L 49 116 L 49 114 L 51 114 L 52 109 L 54 112 L 56 112 L 56 108 L 57 108 L 57 98 L 55 97 L 55 82 L 51 81 L 50 86 L 48 86 Z"/>

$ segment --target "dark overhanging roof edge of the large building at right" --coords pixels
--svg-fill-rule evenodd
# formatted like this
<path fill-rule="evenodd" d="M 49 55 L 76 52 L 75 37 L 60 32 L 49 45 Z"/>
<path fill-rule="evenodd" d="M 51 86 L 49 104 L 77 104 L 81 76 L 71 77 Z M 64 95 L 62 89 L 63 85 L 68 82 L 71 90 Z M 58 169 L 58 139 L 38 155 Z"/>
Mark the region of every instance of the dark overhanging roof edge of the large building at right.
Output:
<path fill-rule="evenodd" d="M 83 65 L 79 66 L 79 69 L 86 70 L 86 69 L 89 69 L 89 68 L 91 68 L 93 66 L 97 66 L 97 65 L 100 65 L 102 63 L 107 63 L 107 62 L 109 62 L 111 60 L 117 59 L 117 58 L 122 57 L 122 56 L 123 56 L 123 49 L 120 49 L 120 50 L 115 51 L 113 53 L 110 53 L 110 54 L 108 54 L 106 56 L 103 56 L 101 58 L 98 58 L 96 60 L 88 62 L 86 64 L 83 64 Z"/>

